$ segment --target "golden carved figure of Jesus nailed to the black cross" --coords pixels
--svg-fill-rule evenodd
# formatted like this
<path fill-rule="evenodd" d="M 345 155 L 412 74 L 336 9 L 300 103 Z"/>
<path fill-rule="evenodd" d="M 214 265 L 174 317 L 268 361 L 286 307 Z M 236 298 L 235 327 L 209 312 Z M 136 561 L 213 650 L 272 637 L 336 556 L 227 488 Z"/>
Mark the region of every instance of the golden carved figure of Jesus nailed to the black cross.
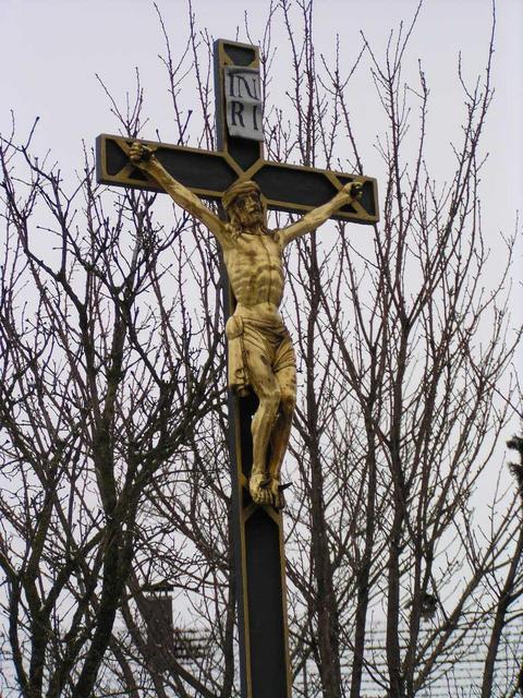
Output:
<path fill-rule="evenodd" d="M 147 146 L 134 143 L 130 158 L 179 206 L 202 221 L 222 250 L 238 301 L 226 326 L 229 387 L 240 396 L 252 389 L 259 400 L 251 426 L 253 467 L 248 489 L 256 504 L 280 509 L 284 504 L 280 471 L 296 401 L 294 349 L 279 312 L 284 281 L 283 250 L 295 238 L 315 230 L 341 206 L 360 198 L 362 184 L 345 184 L 327 204 L 296 222 L 281 230 L 267 230 L 264 203 L 255 182 L 240 181 L 227 190 L 222 203 L 229 222 L 224 222 L 171 177 Z"/>

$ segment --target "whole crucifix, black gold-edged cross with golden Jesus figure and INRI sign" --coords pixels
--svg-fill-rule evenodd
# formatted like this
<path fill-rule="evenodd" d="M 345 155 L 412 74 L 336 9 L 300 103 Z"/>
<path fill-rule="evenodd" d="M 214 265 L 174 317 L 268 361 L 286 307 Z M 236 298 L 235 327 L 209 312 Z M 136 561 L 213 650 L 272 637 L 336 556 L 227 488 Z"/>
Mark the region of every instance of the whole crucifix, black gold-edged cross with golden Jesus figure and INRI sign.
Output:
<path fill-rule="evenodd" d="M 296 397 L 279 305 L 283 249 L 329 218 L 378 220 L 376 180 L 264 159 L 259 55 L 215 43 L 218 151 L 97 139 L 99 182 L 167 192 L 223 257 L 242 698 L 291 698 L 280 471 Z M 218 202 L 216 215 L 202 201 Z M 267 209 L 303 214 L 268 230 Z"/>

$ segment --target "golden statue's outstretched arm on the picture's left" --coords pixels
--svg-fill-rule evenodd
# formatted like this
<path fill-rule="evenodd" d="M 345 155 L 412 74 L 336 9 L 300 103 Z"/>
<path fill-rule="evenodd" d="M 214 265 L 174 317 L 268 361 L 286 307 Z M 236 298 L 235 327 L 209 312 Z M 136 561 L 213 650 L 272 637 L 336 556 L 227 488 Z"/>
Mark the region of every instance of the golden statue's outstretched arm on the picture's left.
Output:
<path fill-rule="evenodd" d="M 174 202 L 192 216 L 200 220 L 212 232 L 223 246 L 227 241 L 224 224 L 216 216 L 202 200 L 186 186 L 175 180 L 159 163 L 153 151 L 142 143 L 133 143 L 129 157 L 134 165 L 149 174 Z"/>

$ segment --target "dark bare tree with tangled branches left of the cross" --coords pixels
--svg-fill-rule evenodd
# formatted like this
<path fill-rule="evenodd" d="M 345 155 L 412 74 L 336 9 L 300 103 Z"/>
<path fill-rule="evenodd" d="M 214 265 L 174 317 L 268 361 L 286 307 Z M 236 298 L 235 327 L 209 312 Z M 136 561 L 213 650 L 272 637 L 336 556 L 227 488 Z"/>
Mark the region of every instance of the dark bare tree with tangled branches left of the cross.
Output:
<path fill-rule="evenodd" d="M 159 506 L 161 482 L 163 500 L 180 496 L 195 430 L 224 399 L 207 260 L 191 313 L 184 289 L 202 242 L 186 219 L 159 226 L 149 195 L 104 196 L 90 158 L 69 190 L 14 136 L 0 153 L 0 564 L 13 670 L 32 698 L 93 694 L 144 564 L 144 507 Z"/>

